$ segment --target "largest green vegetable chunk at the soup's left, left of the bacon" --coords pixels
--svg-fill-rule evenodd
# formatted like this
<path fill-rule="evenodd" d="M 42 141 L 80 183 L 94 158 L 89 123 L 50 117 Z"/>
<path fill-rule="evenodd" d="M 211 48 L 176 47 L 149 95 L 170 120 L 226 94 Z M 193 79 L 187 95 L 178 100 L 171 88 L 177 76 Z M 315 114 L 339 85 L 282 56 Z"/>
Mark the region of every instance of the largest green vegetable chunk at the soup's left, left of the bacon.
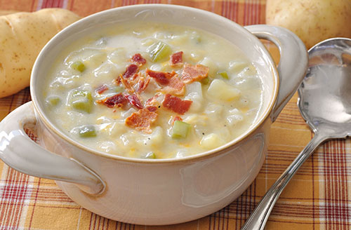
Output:
<path fill-rule="evenodd" d="M 85 111 L 86 113 L 90 113 L 91 109 L 93 109 L 93 97 L 91 97 L 91 93 L 86 90 L 76 90 L 72 93 L 72 107 L 79 111 Z"/>

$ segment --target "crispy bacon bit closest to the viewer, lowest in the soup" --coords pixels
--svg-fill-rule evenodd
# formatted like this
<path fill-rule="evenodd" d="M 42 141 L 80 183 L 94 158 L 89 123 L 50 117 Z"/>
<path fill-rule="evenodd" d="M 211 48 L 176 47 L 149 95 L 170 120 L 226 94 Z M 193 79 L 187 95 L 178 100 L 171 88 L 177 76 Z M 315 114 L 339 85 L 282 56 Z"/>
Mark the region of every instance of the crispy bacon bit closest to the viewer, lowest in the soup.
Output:
<path fill-rule="evenodd" d="M 140 109 L 126 118 L 126 126 L 135 130 L 151 133 L 151 124 L 156 121 L 158 114 L 148 109 Z"/>

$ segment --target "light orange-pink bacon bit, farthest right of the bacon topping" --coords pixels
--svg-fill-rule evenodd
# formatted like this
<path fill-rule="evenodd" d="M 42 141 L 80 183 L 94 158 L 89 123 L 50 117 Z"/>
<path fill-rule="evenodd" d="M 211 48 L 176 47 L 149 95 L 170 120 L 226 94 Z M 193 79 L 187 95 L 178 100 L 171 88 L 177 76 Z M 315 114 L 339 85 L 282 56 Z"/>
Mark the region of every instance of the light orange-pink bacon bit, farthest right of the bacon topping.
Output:
<path fill-rule="evenodd" d="M 185 64 L 181 79 L 185 83 L 192 83 L 194 81 L 199 81 L 201 79 L 204 79 L 207 76 L 208 76 L 208 67 L 205 67 L 204 65 L 199 65 L 199 64 L 195 66 L 190 64 Z"/>

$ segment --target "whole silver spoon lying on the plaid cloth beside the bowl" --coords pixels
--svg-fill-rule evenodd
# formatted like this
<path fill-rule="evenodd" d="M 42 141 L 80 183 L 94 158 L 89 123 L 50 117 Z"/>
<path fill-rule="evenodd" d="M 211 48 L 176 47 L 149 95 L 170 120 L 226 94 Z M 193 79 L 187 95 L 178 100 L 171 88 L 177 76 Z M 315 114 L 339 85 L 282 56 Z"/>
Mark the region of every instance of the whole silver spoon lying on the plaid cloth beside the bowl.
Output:
<path fill-rule="evenodd" d="M 266 192 L 241 230 L 263 230 L 286 184 L 319 144 L 351 135 L 351 39 L 328 39 L 308 53 L 309 69 L 298 89 L 298 109 L 314 137 Z"/>

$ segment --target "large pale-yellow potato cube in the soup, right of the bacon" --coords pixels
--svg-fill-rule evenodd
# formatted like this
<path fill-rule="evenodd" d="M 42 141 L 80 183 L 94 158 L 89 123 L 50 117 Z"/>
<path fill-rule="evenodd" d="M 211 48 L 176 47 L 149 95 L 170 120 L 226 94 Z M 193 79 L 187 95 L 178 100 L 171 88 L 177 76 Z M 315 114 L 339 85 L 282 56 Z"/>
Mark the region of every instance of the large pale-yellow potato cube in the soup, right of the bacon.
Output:
<path fill-rule="evenodd" d="M 207 93 L 210 95 L 210 97 L 224 101 L 232 101 L 240 96 L 240 90 L 219 79 L 214 79 L 211 82 Z"/>

